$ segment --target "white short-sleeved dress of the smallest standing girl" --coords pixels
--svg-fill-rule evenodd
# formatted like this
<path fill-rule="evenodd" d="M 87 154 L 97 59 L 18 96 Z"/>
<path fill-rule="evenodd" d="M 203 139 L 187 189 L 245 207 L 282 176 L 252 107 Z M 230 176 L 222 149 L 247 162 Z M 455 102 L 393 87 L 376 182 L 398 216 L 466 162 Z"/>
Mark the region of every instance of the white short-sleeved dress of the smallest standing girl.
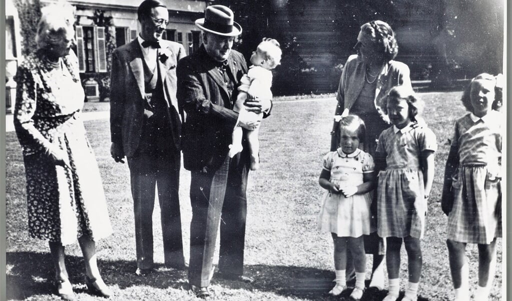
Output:
<path fill-rule="evenodd" d="M 364 182 L 363 174 L 373 172 L 375 164 L 372 156 L 361 149 L 345 154 L 342 148 L 338 148 L 325 155 L 323 168 L 330 171 L 331 183 L 357 186 Z M 326 191 L 322 198 L 318 229 L 336 233 L 339 237 L 368 235 L 375 231 L 370 222 L 370 204 L 369 193 L 345 198 L 343 193 Z"/>

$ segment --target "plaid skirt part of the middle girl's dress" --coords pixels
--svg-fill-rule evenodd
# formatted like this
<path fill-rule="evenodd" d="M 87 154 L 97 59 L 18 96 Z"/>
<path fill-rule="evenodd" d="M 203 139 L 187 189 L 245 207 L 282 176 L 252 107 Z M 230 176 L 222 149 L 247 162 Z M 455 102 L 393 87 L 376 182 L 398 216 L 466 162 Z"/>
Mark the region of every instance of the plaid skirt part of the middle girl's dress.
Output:
<path fill-rule="evenodd" d="M 381 171 L 377 188 L 377 234 L 423 238 L 426 200 L 423 174 L 417 168 Z"/>

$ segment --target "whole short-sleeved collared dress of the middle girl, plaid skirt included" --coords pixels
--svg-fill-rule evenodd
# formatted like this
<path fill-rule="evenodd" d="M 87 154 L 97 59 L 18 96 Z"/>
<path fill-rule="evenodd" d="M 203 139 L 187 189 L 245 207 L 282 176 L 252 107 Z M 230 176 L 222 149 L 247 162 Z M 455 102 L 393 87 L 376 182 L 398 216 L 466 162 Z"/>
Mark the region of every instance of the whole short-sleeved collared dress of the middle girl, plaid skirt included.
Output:
<path fill-rule="evenodd" d="M 391 126 L 378 139 L 376 153 L 386 156 L 378 175 L 377 234 L 423 238 L 427 203 L 420 156 L 437 150 L 435 134 L 423 123 L 399 130 Z"/>

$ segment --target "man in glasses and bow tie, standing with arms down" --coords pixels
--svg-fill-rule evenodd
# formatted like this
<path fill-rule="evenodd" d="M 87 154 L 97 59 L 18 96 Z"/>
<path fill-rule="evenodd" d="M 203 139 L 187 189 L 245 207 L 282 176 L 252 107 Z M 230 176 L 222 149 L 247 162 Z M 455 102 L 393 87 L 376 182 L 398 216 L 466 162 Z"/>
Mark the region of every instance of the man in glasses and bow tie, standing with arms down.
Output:
<path fill-rule="evenodd" d="M 168 11 L 144 0 L 137 11 L 141 32 L 112 55 L 111 155 L 130 169 L 139 276 L 153 270 L 155 186 L 160 203 L 165 265 L 183 269 L 178 197 L 181 117 L 176 100 L 176 65 L 185 56 L 177 42 L 162 40 Z"/>

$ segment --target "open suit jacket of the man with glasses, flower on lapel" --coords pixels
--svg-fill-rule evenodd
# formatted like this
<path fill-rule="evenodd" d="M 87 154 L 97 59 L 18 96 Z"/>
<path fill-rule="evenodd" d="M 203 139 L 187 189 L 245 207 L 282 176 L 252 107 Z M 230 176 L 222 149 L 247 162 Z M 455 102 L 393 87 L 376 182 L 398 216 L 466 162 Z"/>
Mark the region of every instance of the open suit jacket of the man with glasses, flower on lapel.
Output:
<path fill-rule="evenodd" d="M 177 42 L 160 40 L 158 70 L 163 80 L 161 87 L 167 103 L 176 146 L 177 161 L 181 149 L 181 117 L 176 99 L 176 66 L 185 56 L 185 49 Z M 110 130 L 112 142 L 123 146 L 124 155 L 131 157 L 139 147 L 144 122 L 144 56 L 137 39 L 123 45 L 112 54 Z M 179 170 L 179 168 L 178 168 Z"/>

